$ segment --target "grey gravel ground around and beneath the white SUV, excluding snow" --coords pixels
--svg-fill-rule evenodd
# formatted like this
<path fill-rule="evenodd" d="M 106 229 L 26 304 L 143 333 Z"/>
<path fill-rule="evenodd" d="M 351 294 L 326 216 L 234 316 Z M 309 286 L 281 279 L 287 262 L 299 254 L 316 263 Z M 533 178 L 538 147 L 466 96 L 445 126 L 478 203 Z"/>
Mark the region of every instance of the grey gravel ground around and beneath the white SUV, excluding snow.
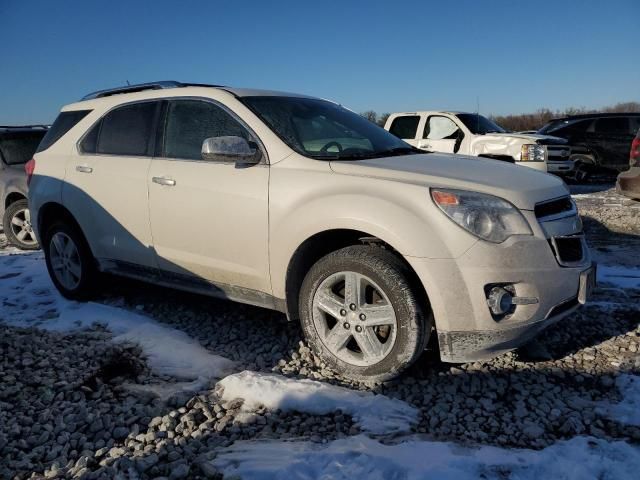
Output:
<path fill-rule="evenodd" d="M 595 256 L 637 266 L 640 204 L 605 187 L 588 190 L 576 200 Z M 278 313 L 122 280 L 109 281 L 99 301 L 182 330 L 239 369 L 367 388 L 325 368 L 300 328 Z M 619 400 L 617 376 L 639 373 L 639 325 L 640 290 L 601 285 L 592 304 L 517 352 L 450 365 L 432 345 L 401 379 L 373 390 L 419 408 L 415 431 L 434 439 L 543 448 L 588 434 L 637 443 L 640 428 L 597 407 Z M 239 439 L 321 443 L 359 433 L 339 411 L 259 409 L 247 418 L 213 388 L 169 396 L 132 388 L 171 379 L 154 375 L 137 346 L 110 338 L 99 328 L 60 334 L 0 326 L 0 478 L 218 478 L 207 460 Z"/>

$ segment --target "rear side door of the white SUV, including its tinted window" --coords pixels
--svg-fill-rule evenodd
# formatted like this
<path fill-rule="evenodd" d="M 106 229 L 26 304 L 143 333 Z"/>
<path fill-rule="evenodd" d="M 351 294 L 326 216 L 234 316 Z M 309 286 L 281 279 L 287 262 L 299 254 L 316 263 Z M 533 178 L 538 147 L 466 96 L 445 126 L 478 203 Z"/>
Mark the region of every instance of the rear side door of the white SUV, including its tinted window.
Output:
<path fill-rule="evenodd" d="M 67 166 L 63 203 L 77 212 L 96 258 L 116 262 L 108 268 L 155 267 L 147 178 L 160 104 L 111 110 L 85 134 Z"/>

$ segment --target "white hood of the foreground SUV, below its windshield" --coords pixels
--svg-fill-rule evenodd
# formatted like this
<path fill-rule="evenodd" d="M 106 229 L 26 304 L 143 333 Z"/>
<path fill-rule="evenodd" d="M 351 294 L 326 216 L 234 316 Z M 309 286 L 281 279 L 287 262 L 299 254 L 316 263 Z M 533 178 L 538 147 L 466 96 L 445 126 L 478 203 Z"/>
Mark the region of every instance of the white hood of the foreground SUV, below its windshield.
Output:
<path fill-rule="evenodd" d="M 522 210 L 533 210 L 536 203 L 569 194 L 564 182 L 554 175 L 488 158 L 427 153 L 332 161 L 330 165 L 344 175 L 487 193 Z"/>

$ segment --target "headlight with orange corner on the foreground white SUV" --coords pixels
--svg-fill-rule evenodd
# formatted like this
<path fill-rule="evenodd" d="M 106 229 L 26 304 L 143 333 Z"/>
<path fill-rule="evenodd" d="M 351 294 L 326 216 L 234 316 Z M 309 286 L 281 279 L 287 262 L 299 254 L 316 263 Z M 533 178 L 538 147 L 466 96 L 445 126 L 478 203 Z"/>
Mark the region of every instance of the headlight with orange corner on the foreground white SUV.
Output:
<path fill-rule="evenodd" d="M 532 235 L 522 213 L 502 198 L 464 190 L 431 190 L 431 198 L 451 220 L 489 242 L 511 235 Z"/>

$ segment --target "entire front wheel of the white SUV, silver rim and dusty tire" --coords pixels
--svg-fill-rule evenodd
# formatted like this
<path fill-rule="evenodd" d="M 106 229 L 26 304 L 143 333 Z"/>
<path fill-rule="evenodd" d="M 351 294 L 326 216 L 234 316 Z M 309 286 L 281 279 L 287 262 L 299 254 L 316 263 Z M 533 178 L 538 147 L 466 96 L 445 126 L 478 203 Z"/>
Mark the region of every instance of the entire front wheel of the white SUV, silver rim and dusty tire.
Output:
<path fill-rule="evenodd" d="M 347 247 L 320 259 L 300 292 L 311 348 L 356 381 L 397 376 L 422 353 L 432 326 L 409 278 L 400 259 L 378 247 Z"/>

